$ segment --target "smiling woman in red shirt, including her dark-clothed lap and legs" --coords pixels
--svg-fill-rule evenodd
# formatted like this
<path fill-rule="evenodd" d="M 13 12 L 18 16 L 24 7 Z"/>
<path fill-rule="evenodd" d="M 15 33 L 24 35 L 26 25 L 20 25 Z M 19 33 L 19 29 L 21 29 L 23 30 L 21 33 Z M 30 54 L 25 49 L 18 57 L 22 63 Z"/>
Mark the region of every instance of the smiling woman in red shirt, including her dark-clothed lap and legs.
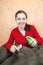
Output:
<path fill-rule="evenodd" d="M 28 63 L 27 65 L 31 65 L 32 63 L 33 65 L 39 65 L 38 62 L 40 59 L 37 59 L 37 54 L 34 51 L 32 51 L 32 48 L 34 48 L 35 45 L 38 45 L 38 46 L 42 45 L 43 39 L 40 37 L 36 28 L 33 25 L 27 24 L 27 14 L 25 11 L 23 10 L 17 11 L 15 14 L 15 21 L 18 24 L 18 27 L 14 28 L 11 31 L 9 40 L 4 44 L 4 47 L 1 48 L 2 54 L 0 55 L 1 56 L 0 60 L 1 59 L 2 60 L 0 61 L 0 64 L 13 65 L 13 63 L 17 61 L 17 62 L 20 62 L 20 65 L 21 65 L 22 63 L 24 64 L 26 61 L 26 63 Z M 27 36 L 32 38 L 33 42 L 30 45 L 28 44 L 28 41 L 26 40 Z M 19 49 L 17 48 L 16 45 L 23 46 L 21 48 L 21 52 L 19 52 Z M 3 48 L 5 50 L 5 54 L 4 54 L 5 56 L 3 55 Z M 26 60 L 23 62 L 24 59 Z M 32 63 L 30 62 L 31 60 L 32 60 Z"/>

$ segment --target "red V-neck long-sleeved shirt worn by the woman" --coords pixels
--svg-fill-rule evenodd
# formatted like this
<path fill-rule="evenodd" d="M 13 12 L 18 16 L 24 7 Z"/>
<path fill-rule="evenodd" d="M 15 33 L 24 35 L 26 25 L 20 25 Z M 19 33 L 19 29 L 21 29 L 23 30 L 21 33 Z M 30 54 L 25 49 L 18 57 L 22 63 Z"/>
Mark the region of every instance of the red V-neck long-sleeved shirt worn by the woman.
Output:
<path fill-rule="evenodd" d="M 31 26 L 31 29 L 29 31 L 26 31 L 25 36 L 23 36 L 20 33 L 18 27 L 13 29 L 11 31 L 8 42 L 5 44 L 5 48 L 7 50 L 9 50 L 10 47 L 13 45 L 14 40 L 17 44 L 22 44 L 23 46 L 31 47 L 30 45 L 28 45 L 28 42 L 26 40 L 26 36 L 31 36 L 31 37 L 35 38 L 38 42 L 38 45 L 42 44 L 43 39 L 39 36 L 39 34 L 38 34 L 37 30 L 35 29 L 35 27 L 33 25 L 30 25 L 30 26 Z"/>

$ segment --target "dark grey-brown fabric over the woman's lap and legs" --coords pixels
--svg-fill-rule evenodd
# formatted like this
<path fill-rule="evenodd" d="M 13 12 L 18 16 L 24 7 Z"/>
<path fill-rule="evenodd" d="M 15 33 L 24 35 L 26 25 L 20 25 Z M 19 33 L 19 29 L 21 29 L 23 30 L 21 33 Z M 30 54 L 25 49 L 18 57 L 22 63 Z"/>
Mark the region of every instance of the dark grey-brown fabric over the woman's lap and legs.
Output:
<path fill-rule="evenodd" d="M 41 65 L 40 55 L 37 49 L 24 47 L 15 53 L 0 47 L 0 65 Z"/>

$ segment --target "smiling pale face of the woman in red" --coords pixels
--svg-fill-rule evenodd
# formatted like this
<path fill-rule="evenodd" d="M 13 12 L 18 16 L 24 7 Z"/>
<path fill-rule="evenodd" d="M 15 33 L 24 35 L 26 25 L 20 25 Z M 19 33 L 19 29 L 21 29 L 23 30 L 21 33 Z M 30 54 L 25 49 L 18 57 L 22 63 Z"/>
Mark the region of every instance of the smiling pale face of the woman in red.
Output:
<path fill-rule="evenodd" d="M 26 21 L 27 21 L 27 18 L 24 13 L 17 14 L 16 22 L 20 28 L 25 28 Z"/>

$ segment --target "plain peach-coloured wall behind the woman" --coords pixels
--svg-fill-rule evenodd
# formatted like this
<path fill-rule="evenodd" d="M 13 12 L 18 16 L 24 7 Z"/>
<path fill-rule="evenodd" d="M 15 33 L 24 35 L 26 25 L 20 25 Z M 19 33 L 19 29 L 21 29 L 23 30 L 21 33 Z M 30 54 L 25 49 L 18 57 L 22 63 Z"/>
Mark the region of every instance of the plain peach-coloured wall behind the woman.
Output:
<path fill-rule="evenodd" d="M 28 14 L 27 22 L 34 24 L 43 37 L 43 0 L 0 0 L 0 46 L 8 40 L 9 33 L 17 26 L 14 15 L 21 9 Z"/>

